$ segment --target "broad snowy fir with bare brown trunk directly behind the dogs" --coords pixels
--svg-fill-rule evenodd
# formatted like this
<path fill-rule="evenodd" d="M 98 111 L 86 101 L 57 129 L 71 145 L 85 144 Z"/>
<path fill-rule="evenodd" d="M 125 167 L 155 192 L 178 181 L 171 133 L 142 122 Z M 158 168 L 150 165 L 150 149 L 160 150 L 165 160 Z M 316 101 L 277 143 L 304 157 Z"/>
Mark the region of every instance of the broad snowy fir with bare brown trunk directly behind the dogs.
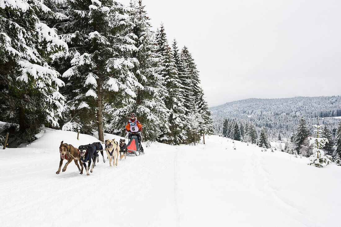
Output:
<path fill-rule="evenodd" d="M 127 8 L 111 0 L 70 0 L 66 5 L 69 20 L 61 37 L 72 56 L 72 67 L 63 73 L 70 116 L 66 128 L 97 125 L 103 141 L 102 110 L 119 115 L 119 108 L 136 97 L 135 88 L 143 88 L 130 72 L 137 63 L 129 57 L 137 49 L 128 33 L 132 23 Z"/>

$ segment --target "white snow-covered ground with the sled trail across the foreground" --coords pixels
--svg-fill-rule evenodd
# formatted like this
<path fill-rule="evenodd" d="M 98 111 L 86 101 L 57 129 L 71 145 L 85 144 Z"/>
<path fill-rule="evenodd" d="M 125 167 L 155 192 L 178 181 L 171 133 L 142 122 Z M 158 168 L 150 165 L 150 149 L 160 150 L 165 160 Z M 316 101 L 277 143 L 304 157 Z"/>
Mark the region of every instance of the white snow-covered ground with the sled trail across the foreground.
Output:
<path fill-rule="evenodd" d="M 152 143 L 117 167 L 100 159 L 90 176 L 74 163 L 57 175 L 62 140 L 98 141 L 76 137 L 46 128 L 0 151 L 1 226 L 340 226 L 339 166 L 208 136 L 206 145 Z"/>

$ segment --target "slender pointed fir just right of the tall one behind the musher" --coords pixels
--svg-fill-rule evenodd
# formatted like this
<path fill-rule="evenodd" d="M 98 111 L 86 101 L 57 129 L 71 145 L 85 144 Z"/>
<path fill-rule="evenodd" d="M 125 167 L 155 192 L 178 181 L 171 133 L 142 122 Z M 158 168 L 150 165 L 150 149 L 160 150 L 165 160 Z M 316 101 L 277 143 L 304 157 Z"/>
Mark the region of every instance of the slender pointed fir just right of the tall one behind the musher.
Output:
<path fill-rule="evenodd" d="M 161 134 L 160 141 L 169 144 L 180 144 L 187 139 L 183 124 L 186 122 L 186 110 L 183 107 L 183 91 L 178 78 L 174 55 L 168 45 L 163 24 L 161 24 L 156 34 L 156 42 L 158 44 L 157 53 L 161 55 L 162 70 L 160 74 L 163 76 L 163 85 L 166 88 L 163 101 L 169 111 L 168 122 L 170 124 L 170 129 Z"/>

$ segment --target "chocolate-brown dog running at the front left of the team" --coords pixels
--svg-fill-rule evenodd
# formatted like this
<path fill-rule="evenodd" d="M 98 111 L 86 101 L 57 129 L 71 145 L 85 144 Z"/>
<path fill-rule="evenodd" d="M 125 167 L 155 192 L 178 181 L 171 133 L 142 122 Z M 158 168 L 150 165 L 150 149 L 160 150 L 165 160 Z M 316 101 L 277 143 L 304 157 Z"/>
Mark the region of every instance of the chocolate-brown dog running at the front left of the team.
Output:
<path fill-rule="evenodd" d="M 68 165 L 70 164 L 70 162 L 72 160 L 75 161 L 76 166 L 78 167 L 78 170 L 80 172 L 80 174 L 83 174 L 83 165 L 80 162 L 80 155 L 78 152 L 78 149 L 73 147 L 71 144 L 67 144 L 67 143 L 63 143 L 63 141 L 60 143 L 59 146 L 59 153 L 60 153 L 60 162 L 59 162 L 59 169 L 56 172 L 56 174 L 60 173 L 60 168 L 63 165 L 63 161 L 64 159 L 66 159 L 68 162 L 66 162 L 64 168 L 63 168 L 63 172 L 65 172 L 66 167 L 68 167 Z M 78 165 L 78 161 L 79 160 L 79 164 L 81 165 L 82 169 L 79 168 Z"/>

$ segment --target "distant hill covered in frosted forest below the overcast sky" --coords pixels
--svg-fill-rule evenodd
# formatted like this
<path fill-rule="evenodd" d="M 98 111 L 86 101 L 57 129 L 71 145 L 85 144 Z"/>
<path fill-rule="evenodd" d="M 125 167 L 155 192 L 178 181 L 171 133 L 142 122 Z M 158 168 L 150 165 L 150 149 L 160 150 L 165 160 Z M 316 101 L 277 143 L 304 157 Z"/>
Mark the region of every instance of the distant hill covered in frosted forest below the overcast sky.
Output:
<path fill-rule="evenodd" d="M 336 128 L 341 116 L 341 96 L 295 97 L 282 99 L 244 99 L 210 108 L 217 132 L 225 117 L 237 118 L 240 124 L 253 123 L 257 130 L 269 129 L 270 137 L 290 137 L 300 117 L 316 124 L 317 116 L 330 130 Z M 310 127 L 310 125 L 308 125 Z M 311 127 L 310 127 L 311 128 Z"/>

